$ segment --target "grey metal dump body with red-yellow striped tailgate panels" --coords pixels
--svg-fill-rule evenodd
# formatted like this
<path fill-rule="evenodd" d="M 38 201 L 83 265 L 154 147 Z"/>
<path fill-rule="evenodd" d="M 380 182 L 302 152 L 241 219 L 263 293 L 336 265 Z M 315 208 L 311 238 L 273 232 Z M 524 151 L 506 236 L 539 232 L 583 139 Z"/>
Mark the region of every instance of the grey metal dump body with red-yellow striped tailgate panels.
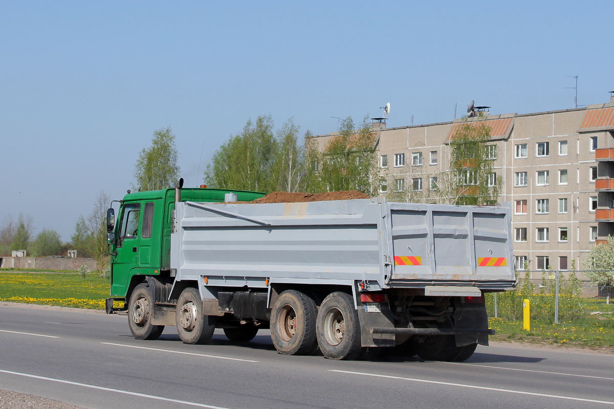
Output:
<path fill-rule="evenodd" d="M 354 199 L 176 204 L 175 285 L 267 291 L 279 283 L 472 296 L 515 283 L 510 206 Z"/>

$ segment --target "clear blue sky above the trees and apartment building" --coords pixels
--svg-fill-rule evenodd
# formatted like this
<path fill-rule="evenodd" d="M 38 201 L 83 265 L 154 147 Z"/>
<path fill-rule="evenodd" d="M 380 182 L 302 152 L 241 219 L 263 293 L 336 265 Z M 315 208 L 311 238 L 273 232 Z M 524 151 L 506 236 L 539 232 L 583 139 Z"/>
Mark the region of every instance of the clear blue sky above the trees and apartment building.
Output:
<path fill-rule="evenodd" d="M 609 102 L 614 2 L 0 2 L 0 223 L 69 241 L 101 191 L 121 199 L 153 132 L 185 186 L 250 118 L 387 127 Z"/>

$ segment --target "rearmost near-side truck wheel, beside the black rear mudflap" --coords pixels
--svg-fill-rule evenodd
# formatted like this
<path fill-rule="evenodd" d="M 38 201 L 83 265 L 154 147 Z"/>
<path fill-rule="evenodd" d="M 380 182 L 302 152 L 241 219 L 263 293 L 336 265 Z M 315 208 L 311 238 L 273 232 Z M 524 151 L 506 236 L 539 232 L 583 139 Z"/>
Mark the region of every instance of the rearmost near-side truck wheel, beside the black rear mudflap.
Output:
<path fill-rule="evenodd" d="M 333 292 L 317 313 L 317 343 L 328 359 L 356 359 L 362 353 L 360 321 L 352 296 Z"/>

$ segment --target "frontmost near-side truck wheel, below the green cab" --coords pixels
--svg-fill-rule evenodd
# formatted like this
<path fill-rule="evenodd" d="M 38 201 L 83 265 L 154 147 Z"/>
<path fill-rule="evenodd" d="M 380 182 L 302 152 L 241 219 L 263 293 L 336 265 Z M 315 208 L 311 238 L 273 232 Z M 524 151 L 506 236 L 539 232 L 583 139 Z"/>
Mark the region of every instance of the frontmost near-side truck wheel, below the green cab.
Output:
<path fill-rule="evenodd" d="M 134 338 L 138 340 L 156 340 L 164 331 L 163 325 L 152 325 L 153 294 L 147 283 L 134 288 L 128 304 L 128 325 Z"/>

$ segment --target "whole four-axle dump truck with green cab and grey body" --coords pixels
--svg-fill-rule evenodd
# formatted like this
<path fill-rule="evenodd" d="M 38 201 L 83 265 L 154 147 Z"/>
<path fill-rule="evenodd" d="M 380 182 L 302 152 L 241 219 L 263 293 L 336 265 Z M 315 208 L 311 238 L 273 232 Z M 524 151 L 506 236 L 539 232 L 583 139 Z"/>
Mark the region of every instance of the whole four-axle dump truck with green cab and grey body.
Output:
<path fill-rule="evenodd" d="M 270 329 L 279 353 L 329 359 L 464 361 L 488 345 L 484 294 L 516 283 L 508 203 L 250 202 L 262 196 L 182 180 L 126 194 L 117 223 L 107 212 L 107 313 L 126 311 L 141 340 Z"/>

